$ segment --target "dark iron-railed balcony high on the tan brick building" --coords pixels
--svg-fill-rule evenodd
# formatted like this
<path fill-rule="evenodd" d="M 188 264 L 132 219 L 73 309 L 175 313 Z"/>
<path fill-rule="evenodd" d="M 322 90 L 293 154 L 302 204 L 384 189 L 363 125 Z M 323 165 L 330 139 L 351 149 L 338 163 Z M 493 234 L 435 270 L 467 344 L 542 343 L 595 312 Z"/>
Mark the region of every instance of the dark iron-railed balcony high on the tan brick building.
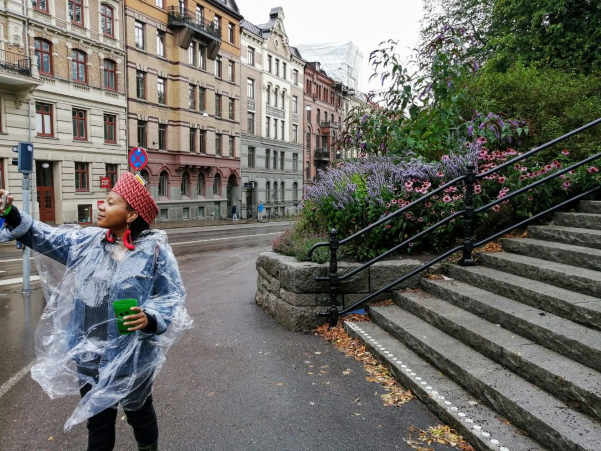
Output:
<path fill-rule="evenodd" d="M 221 46 L 221 26 L 212 20 L 205 19 L 196 11 L 170 6 L 167 8 L 167 26 L 175 31 L 174 40 L 183 49 L 188 49 L 192 34 L 207 43 L 207 57 L 212 60 L 217 56 Z M 188 29 L 190 32 L 186 32 Z"/>

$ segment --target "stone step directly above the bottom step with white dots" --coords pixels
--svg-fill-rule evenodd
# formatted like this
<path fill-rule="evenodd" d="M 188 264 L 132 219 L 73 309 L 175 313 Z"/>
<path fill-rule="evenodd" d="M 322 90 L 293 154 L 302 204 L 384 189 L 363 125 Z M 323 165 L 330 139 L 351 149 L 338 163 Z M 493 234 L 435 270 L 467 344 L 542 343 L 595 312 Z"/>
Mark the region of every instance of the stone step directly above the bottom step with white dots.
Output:
<path fill-rule="evenodd" d="M 398 305 L 369 310 L 377 325 L 543 446 L 553 451 L 601 449 L 601 425 L 585 414 Z"/>

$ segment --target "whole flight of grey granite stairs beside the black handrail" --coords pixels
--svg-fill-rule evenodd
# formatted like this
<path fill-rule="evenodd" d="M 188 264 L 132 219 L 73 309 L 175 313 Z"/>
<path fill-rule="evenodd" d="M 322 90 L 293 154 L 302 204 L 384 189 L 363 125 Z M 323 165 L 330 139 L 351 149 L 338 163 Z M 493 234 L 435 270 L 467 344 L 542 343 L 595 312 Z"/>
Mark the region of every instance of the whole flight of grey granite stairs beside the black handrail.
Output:
<path fill-rule="evenodd" d="M 601 201 L 423 278 L 349 334 L 477 450 L 601 450 Z"/>

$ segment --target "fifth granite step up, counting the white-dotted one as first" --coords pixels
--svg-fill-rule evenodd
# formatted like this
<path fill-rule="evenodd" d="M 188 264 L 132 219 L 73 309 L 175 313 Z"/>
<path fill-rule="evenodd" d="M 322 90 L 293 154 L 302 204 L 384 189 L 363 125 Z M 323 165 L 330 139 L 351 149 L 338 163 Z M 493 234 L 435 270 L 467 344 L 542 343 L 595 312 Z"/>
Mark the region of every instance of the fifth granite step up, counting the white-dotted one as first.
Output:
<path fill-rule="evenodd" d="M 474 287 L 540 308 L 587 327 L 601 330 L 601 299 L 531 280 L 486 266 L 463 268 L 453 265 L 449 275 Z"/>

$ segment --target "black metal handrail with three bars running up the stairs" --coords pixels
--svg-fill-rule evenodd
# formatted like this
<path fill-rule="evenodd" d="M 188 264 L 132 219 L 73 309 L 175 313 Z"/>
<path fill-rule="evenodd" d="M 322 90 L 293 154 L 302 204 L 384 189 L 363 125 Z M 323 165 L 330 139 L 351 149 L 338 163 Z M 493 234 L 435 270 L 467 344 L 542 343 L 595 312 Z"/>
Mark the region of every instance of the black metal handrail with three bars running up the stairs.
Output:
<path fill-rule="evenodd" d="M 590 195 L 590 194 L 593 194 L 594 192 L 599 191 L 599 189 L 601 189 L 601 187 L 596 187 L 596 188 L 590 189 L 582 194 L 576 195 L 575 197 L 572 197 L 566 201 L 563 201 L 562 203 L 560 203 L 556 206 L 550 207 L 549 209 L 545 210 L 544 212 L 540 212 L 537 215 L 532 216 L 531 218 L 525 219 L 524 221 L 521 221 L 517 224 L 511 225 L 510 227 L 503 230 L 502 232 L 495 233 L 494 235 L 489 236 L 488 238 L 485 238 L 481 241 L 478 241 L 477 243 L 472 242 L 472 232 L 473 232 L 472 221 L 473 221 L 474 215 L 476 213 L 483 212 L 484 210 L 487 210 L 490 207 L 493 207 L 499 203 L 505 202 L 517 195 L 523 194 L 526 191 L 531 191 L 532 189 L 536 188 L 537 186 L 543 185 L 544 183 L 548 182 L 551 179 L 560 177 L 563 174 L 566 174 L 566 173 L 574 170 L 575 168 L 581 167 L 582 165 L 585 165 L 588 162 L 591 162 L 597 158 L 601 158 L 601 153 L 596 153 L 595 155 L 585 158 L 582 161 L 576 162 L 575 164 L 572 164 L 569 167 L 563 168 L 559 171 L 555 171 L 554 173 L 549 174 L 549 176 L 543 177 L 543 179 L 537 180 L 536 182 L 532 182 L 529 185 L 526 185 L 520 189 L 517 189 L 516 191 L 510 192 L 510 194 L 507 194 L 502 198 L 498 198 L 482 207 L 474 209 L 473 197 L 474 197 L 474 184 L 475 184 L 476 180 L 483 179 L 484 177 L 487 177 L 490 174 L 497 173 L 498 171 L 501 171 L 504 168 L 507 168 L 511 165 L 516 164 L 516 162 L 522 161 L 523 159 L 528 158 L 529 156 L 534 155 L 535 153 L 538 153 L 544 149 L 548 149 L 548 147 L 554 146 L 554 144 L 557 144 L 557 143 L 560 143 L 561 141 L 567 140 L 567 138 L 573 137 L 574 135 L 576 135 L 584 130 L 590 129 L 591 127 L 594 127 L 599 123 L 601 123 L 601 118 L 598 118 L 597 120 L 594 120 L 582 127 L 579 127 L 578 129 L 572 130 L 572 132 L 566 133 L 566 134 L 562 135 L 561 137 L 556 138 L 555 140 L 552 140 L 552 141 L 549 141 L 548 143 L 543 144 L 542 146 L 535 147 L 534 149 L 529 150 L 529 152 L 523 153 L 522 155 L 519 155 L 516 158 L 511 159 L 510 161 L 504 162 L 484 173 L 476 174 L 475 166 L 473 163 L 470 162 L 470 163 L 468 163 L 468 165 L 466 167 L 465 175 L 462 175 L 462 176 L 456 177 L 453 180 L 450 180 L 450 182 L 447 182 L 444 185 L 439 186 L 435 190 L 427 193 L 426 195 L 423 195 L 419 199 L 412 201 L 411 203 L 407 204 L 406 206 L 401 207 L 396 212 L 390 213 L 389 215 L 384 216 L 383 218 L 379 219 L 378 221 L 374 222 L 373 224 L 368 225 L 368 227 L 365 227 L 364 229 L 359 230 L 359 232 L 353 233 L 353 235 L 351 235 L 347 238 L 344 238 L 341 240 L 338 239 L 337 230 L 332 229 L 330 232 L 330 241 L 329 242 L 320 242 L 320 243 L 313 245 L 313 247 L 311 247 L 311 249 L 308 253 L 308 260 L 311 260 L 311 256 L 317 248 L 325 247 L 325 246 L 329 246 L 329 248 L 330 248 L 329 275 L 326 277 L 317 276 L 315 278 L 316 281 L 328 281 L 330 306 L 328 308 L 328 311 L 319 312 L 319 313 L 316 313 L 316 315 L 317 316 L 328 316 L 329 324 L 331 327 L 333 327 L 337 323 L 338 318 L 341 315 L 347 314 L 350 311 L 356 310 L 356 308 L 365 304 L 365 302 L 370 301 L 371 299 L 373 299 L 380 293 L 386 292 L 389 289 L 391 289 L 392 287 L 397 286 L 400 283 L 403 283 L 403 281 L 407 280 L 410 277 L 413 277 L 413 275 L 419 274 L 419 272 L 430 268 L 430 266 L 435 265 L 435 263 L 440 262 L 441 260 L 447 258 L 448 256 L 454 254 L 455 252 L 457 252 L 459 250 L 463 250 L 463 256 L 460 259 L 459 264 L 462 266 L 474 266 L 476 264 L 472 257 L 472 252 L 473 252 L 474 248 L 480 247 L 480 246 L 486 244 L 487 242 L 490 242 L 493 239 L 496 239 L 499 236 L 502 236 L 505 233 L 510 232 L 511 230 L 517 229 L 518 227 L 522 227 L 522 225 L 525 225 L 525 224 L 528 224 L 529 222 L 535 221 L 536 219 L 541 218 L 541 217 L 547 215 L 548 213 L 551 213 L 551 212 L 553 212 L 557 209 L 560 209 L 570 203 L 575 202 L 576 200 L 580 200 L 581 198 L 584 198 L 587 195 Z M 358 268 L 355 268 L 352 271 L 347 272 L 344 275 L 338 275 L 338 259 L 337 259 L 338 247 L 340 247 L 341 245 L 346 244 L 350 241 L 353 241 L 353 239 L 356 239 L 359 236 L 363 235 L 364 233 L 367 233 L 370 230 L 375 229 L 376 227 L 383 224 L 384 222 L 392 221 L 392 219 L 394 219 L 396 216 L 402 214 L 403 212 L 410 209 L 411 207 L 426 201 L 430 197 L 432 197 L 436 194 L 439 194 L 440 192 L 444 191 L 445 189 L 449 188 L 450 186 L 454 186 L 457 183 L 462 182 L 462 181 L 465 183 L 465 197 L 464 197 L 465 209 L 455 212 L 455 213 L 453 213 L 453 215 L 447 216 L 447 218 L 445 218 L 445 219 L 441 219 L 441 221 L 436 222 L 436 224 L 433 224 L 430 227 L 428 227 L 427 229 L 424 229 L 421 232 L 416 233 L 416 235 L 413 235 L 412 237 L 407 238 L 405 241 L 401 242 L 400 244 L 395 245 L 394 247 L 392 247 L 385 253 L 380 254 L 377 257 L 374 257 L 373 259 L 364 263 L 361 266 L 358 266 Z M 394 253 L 395 251 L 401 250 L 404 247 L 407 247 L 409 244 L 414 242 L 416 239 L 419 239 L 419 238 L 422 238 L 423 236 L 429 235 L 430 233 L 434 232 L 436 229 L 441 227 L 441 225 L 446 224 L 447 222 L 451 221 L 454 218 L 457 218 L 457 216 L 463 216 L 463 218 L 464 218 L 463 244 L 462 245 L 459 245 L 457 247 L 454 247 L 451 250 L 446 251 L 445 253 L 439 255 L 435 259 L 430 260 L 430 262 L 424 263 L 424 265 L 419 266 L 419 268 L 416 268 L 413 271 L 410 271 L 409 273 L 403 275 L 402 277 L 398 278 L 397 280 L 393 281 L 392 283 L 389 283 L 385 287 L 382 287 L 381 289 L 377 290 L 376 292 L 371 293 L 370 295 L 366 296 L 364 299 L 361 299 L 360 301 L 355 302 L 355 304 L 351 305 L 350 307 L 345 308 L 344 304 L 343 304 L 343 310 L 338 311 L 337 298 L 338 298 L 338 284 L 340 283 L 340 281 L 344 281 L 347 278 L 350 278 L 353 275 L 358 274 L 358 272 L 361 272 L 364 269 L 366 269 L 369 266 L 376 263 L 377 261 L 382 260 L 389 254 Z"/>

